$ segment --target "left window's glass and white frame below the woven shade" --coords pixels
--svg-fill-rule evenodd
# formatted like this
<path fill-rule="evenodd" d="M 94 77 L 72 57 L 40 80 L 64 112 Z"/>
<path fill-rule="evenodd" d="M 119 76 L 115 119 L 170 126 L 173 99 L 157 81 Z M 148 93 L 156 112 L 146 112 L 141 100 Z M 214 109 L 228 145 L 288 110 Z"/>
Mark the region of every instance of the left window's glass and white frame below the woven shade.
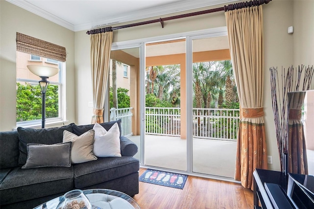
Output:
<path fill-rule="evenodd" d="M 40 78 L 28 69 L 29 54 L 17 52 L 16 69 L 16 122 L 17 126 L 36 126 L 41 124 L 42 95 L 38 84 Z M 39 57 L 39 60 L 41 58 Z M 43 58 L 42 58 L 43 59 Z M 48 59 L 47 59 L 48 60 Z M 46 124 L 65 119 L 63 104 L 64 82 L 63 72 L 65 62 L 51 60 L 51 63 L 38 63 L 39 65 L 53 66 L 57 64 L 60 71 L 48 78 L 49 86 L 46 92 Z"/>

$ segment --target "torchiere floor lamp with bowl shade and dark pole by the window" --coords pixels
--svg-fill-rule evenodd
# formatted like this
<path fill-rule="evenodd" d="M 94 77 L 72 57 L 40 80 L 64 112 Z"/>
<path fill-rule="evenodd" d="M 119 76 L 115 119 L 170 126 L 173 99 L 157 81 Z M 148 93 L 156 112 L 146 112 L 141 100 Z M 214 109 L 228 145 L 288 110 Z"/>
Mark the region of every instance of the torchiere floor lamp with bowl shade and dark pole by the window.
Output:
<path fill-rule="evenodd" d="M 27 68 L 33 74 L 39 76 L 41 80 L 39 81 L 40 89 L 41 89 L 41 101 L 42 101 L 42 108 L 41 108 L 41 128 L 45 128 L 45 120 L 46 120 L 46 90 L 49 85 L 49 81 L 47 79 L 56 75 L 59 72 L 59 68 L 57 67 L 50 67 L 44 65 L 27 65 Z"/>

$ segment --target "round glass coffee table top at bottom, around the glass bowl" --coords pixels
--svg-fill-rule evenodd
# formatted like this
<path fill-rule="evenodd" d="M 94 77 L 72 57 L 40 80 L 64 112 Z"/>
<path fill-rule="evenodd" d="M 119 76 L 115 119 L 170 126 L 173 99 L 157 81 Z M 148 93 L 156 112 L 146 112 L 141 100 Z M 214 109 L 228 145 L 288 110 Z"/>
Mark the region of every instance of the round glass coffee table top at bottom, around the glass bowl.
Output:
<path fill-rule="evenodd" d="M 111 189 L 87 189 L 83 193 L 92 204 L 92 209 L 140 209 L 129 195 Z M 62 196 L 43 203 L 34 209 L 56 209 Z"/>

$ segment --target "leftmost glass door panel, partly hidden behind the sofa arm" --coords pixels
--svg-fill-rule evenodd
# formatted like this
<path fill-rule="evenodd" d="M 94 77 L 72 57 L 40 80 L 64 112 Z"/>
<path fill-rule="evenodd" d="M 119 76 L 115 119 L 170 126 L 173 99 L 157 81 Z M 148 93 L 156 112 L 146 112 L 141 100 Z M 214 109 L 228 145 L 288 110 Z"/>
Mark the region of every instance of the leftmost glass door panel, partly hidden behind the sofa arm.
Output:
<path fill-rule="evenodd" d="M 121 119 L 122 135 L 133 141 L 140 159 L 140 48 L 111 51 L 109 86 L 110 86 L 110 121 Z"/>

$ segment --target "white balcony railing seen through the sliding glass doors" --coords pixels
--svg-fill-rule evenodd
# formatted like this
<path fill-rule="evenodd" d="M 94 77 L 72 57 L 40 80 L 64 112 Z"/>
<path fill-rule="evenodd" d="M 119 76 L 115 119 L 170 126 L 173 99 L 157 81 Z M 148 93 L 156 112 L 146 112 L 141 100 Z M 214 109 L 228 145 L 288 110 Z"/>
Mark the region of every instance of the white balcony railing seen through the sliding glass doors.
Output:
<path fill-rule="evenodd" d="M 131 136 L 133 108 L 110 109 L 110 120 L 122 119 L 122 134 Z M 193 138 L 235 141 L 239 127 L 239 109 L 193 108 Z M 180 108 L 145 108 L 145 133 L 180 136 Z"/>

